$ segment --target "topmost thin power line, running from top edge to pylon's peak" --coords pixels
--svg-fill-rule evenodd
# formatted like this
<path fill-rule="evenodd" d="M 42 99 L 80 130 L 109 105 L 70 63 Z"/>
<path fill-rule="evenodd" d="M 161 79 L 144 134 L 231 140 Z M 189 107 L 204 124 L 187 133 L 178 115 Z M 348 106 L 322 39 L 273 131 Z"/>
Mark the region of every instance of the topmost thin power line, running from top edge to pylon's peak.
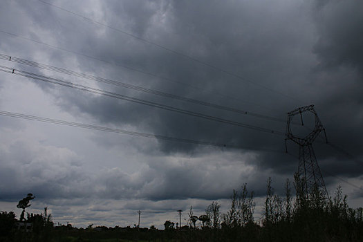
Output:
<path fill-rule="evenodd" d="M 292 96 L 290 96 L 290 95 L 286 95 L 285 93 L 281 93 L 281 92 L 279 92 L 279 91 L 276 91 L 276 90 L 274 90 L 274 89 L 271 89 L 270 87 L 265 86 L 265 85 L 263 85 L 263 84 L 259 84 L 259 83 L 257 83 L 257 82 L 252 82 L 252 80 L 249 80 L 249 79 L 247 79 L 247 78 L 245 78 L 245 77 L 242 77 L 241 75 L 237 75 L 237 74 L 235 74 L 235 73 L 232 73 L 232 72 L 230 72 L 230 71 L 226 71 L 225 69 L 220 68 L 220 67 L 218 67 L 218 66 L 215 66 L 215 65 L 213 65 L 213 64 L 210 64 L 210 63 L 207 63 L 207 62 L 201 61 L 200 59 L 196 59 L 196 57 L 192 57 L 191 55 L 186 55 L 186 54 L 184 54 L 184 53 L 180 53 L 180 52 L 178 52 L 178 51 L 176 51 L 176 50 L 172 50 L 171 48 L 167 48 L 167 47 L 162 46 L 162 45 L 160 45 L 160 44 L 156 44 L 155 42 L 150 41 L 150 40 L 148 40 L 148 39 L 144 39 L 144 38 L 142 38 L 142 37 L 138 37 L 138 36 L 133 35 L 133 34 L 131 34 L 131 33 L 129 33 L 129 32 L 126 32 L 126 31 L 124 31 L 124 30 L 120 30 L 119 28 L 115 28 L 115 27 L 109 26 L 108 24 L 104 24 L 104 23 L 102 23 L 102 22 L 100 22 L 100 21 L 95 21 L 95 20 L 93 20 L 93 19 L 91 19 L 91 18 L 89 18 L 89 17 L 85 17 L 85 16 L 83 16 L 83 15 L 79 15 L 79 14 L 77 14 L 77 13 L 75 13 L 75 12 L 72 12 L 71 10 L 66 10 L 65 8 L 61 8 L 61 7 L 59 7 L 59 6 L 55 6 L 55 5 L 54 5 L 54 4 L 52 4 L 52 3 L 48 3 L 48 2 L 46 2 L 46 1 L 42 1 L 42 0 L 38 0 L 38 1 L 40 1 L 41 3 L 46 3 L 46 4 L 48 4 L 49 6 L 53 6 L 54 8 L 58 8 L 59 10 L 62 10 L 62 11 L 65 11 L 65 12 L 71 13 L 72 15 L 75 15 L 75 16 L 80 17 L 80 18 L 82 18 L 82 19 L 87 19 L 87 20 L 89 20 L 89 21 L 91 21 L 91 22 L 93 22 L 93 23 L 95 23 L 95 24 L 99 24 L 99 25 L 104 26 L 104 27 L 106 27 L 106 28 L 111 28 L 112 30 L 115 30 L 115 31 L 121 32 L 121 33 L 122 33 L 122 34 L 124 34 L 124 35 L 128 35 L 128 36 L 130 36 L 130 37 L 133 37 L 133 38 L 135 38 L 135 39 L 138 39 L 139 41 L 143 41 L 143 42 L 145 42 L 145 43 L 147 43 L 147 44 L 151 44 L 151 45 L 153 45 L 153 46 L 157 46 L 158 48 L 162 48 L 163 50 L 167 50 L 167 51 L 169 51 L 170 53 L 173 53 L 173 54 L 175 54 L 175 55 L 179 55 L 179 56 L 181 56 L 181 57 L 185 57 L 185 58 L 187 58 L 187 59 L 191 59 L 191 60 L 192 60 L 192 61 L 194 61 L 194 62 L 198 62 L 199 64 L 203 64 L 204 66 L 208 66 L 208 67 L 210 67 L 210 68 L 213 68 L 213 69 L 215 69 L 215 70 L 217 70 L 217 71 L 220 71 L 221 73 L 225 73 L 225 74 L 230 75 L 230 76 L 232 76 L 232 77 L 236 77 L 236 78 L 238 78 L 239 80 L 243 80 L 244 82 L 248 82 L 248 83 L 250 83 L 250 84 L 254 84 L 254 85 L 259 86 L 259 87 L 261 87 L 261 88 L 263 88 L 263 89 L 266 89 L 266 90 L 268 90 L 268 91 L 270 91 L 270 92 L 274 92 L 274 93 L 277 93 L 277 94 L 279 94 L 279 95 L 283 95 L 283 96 L 285 96 L 285 97 L 288 97 L 288 98 L 289 98 L 289 99 L 291 99 L 291 100 L 295 100 L 295 101 L 297 101 L 297 102 L 301 102 L 301 100 L 298 100 L 298 99 L 297 99 L 297 98 L 295 98 L 295 97 L 292 97 Z"/>

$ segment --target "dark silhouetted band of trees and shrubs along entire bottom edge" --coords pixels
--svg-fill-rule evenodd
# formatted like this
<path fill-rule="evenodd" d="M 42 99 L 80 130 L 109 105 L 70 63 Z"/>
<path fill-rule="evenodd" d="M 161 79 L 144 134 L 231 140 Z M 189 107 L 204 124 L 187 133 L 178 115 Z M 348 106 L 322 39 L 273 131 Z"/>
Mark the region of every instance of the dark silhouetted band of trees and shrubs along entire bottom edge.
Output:
<path fill-rule="evenodd" d="M 174 227 L 173 222 L 165 221 L 165 230 L 153 225 L 149 229 L 54 227 L 46 209 L 25 218 L 28 203 L 21 207 L 19 202 L 18 207 L 23 209 L 19 221 L 14 212 L 0 213 L 0 241 L 363 241 L 363 209 L 348 207 L 341 187 L 337 187 L 331 198 L 326 198 L 317 187 L 304 194 L 299 184 L 298 178 L 293 185 L 286 180 L 284 194 L 279 196 L 268 178 L 260 221 L 254 219 L 254 194 L 244 184 L 232 192 L 226 213 L 221 213 L 218 202 L 208 205 L 200 216 L 190 207 L 188 225 Z M 28 199 L 29 195 L 32 194 L 28 194 Z M 25 227 L 27 223 L 31 224 L 30 230 Z"/>

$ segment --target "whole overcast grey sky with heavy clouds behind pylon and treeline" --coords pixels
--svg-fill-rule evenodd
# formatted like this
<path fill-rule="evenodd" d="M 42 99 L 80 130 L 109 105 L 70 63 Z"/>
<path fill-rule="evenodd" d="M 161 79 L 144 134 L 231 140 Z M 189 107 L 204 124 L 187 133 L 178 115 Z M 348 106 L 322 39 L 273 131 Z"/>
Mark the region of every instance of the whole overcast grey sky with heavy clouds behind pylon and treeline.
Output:
<path fill-rule="evenodd" d="M 31 192 L 29 212 L 47 206 L 56 223 L 133 226 L 137 210 L 173 211 L 142 214 L 142 227 L 162 227 L 190 205 L 200 215 L 219 201 L 225 212 L 232 189 L 248 183 L 259 218 L 267 178 L 282 194 L 297 171 L 299 147 L 290 141 L 291 156 L 284 153 L 278 135 L 286 131 L 286 113 L 310 104 L 336 146 L 324 144 L 324 136 L 313 145 L 328 193 L 342 185 L 350 205 L 362 207 L 362 1 L 44 1 L 0 2 L 0 54 L 248 114 L 5 59 L 1 66 L 275 133 L 1 71 L 1 111 L 225 147 L 0 116 L 0 210 L 20 214 L 17 202 Z"/>

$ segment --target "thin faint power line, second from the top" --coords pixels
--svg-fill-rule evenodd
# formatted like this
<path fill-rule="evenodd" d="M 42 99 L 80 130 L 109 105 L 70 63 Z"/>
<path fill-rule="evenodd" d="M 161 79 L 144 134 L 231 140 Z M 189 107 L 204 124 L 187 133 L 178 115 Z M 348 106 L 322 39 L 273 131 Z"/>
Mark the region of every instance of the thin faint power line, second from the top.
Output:
<path fill-rule="evenodd" d="M 4 33 L 4 34 L 6 34 L 6 35 L 10 35 L 11 37 L 17 37 L 17 38 L 25 39 L 25 40 L 28 40 L 28 41 L 33 41 L 33 42 L 35 42 L 35 43 L 37 43 L 37 44 L 42 44 L 42 45 L 44 45 L 44 46 L 48 46 L 48 47 L 50 47 L 50 48 L 55 48 L 55 49 L 57 49 L 57 50 L 66 51 L 66 52 L 68 52 L 68 53 L 73 53 L 73 54 L 75 54 L 75 55 L 80 55 L 80 56 L 82 56 L 82 57 L 86 57 L 86 58 L 89 58 L 89 59 L 94 59 L 94 60 L 97 60 L 97 61 L 99 61 L 99 62 L 104 62 L 104 63 L 106 63 L 106 64 L 110 64 L 110 65 L 113 65 L 113 66 L 120 66 L 120 67 L 122 67 L 122 68 L 126 68 L 126 69 L 129 69 L 129 70 L 131 70 L 131 71 L 135 71 L 135 72 L 142 73 L 142 74 L 145 74 L 145 75 L 150 75 L 150 76 L 152 76 L 152 77 L 156 77 L 156 78 L 158 78 L 159 80 L 164 80 L 164 81 L 168 81 L 168 82 L 174 82 L 174 83 L 176 83 L 176 84 L 180 84 L 180 85 L 183 85 L 183 86 L 188 86 L 188 87 L 189 87 L 189 88 L 191 88 L 191 89 L 196 89 L 196 90 L 199 90 L 199 91 L 207 91 L 207 89 L 203 89 L 203 88 L 201 88 L 201 87 L 199 87 L 199 86 L 194 86 L 194 85 L 191 85 L 191 84 L 187 84 L 187 83 L 185 83 L 185 82 L 178 82 L 178 81 L 173 80 L 173 79 L 171 79 L 171 78 L 168 78 L 168 77 L 162 77 L 162 76 L 157 75 L 157 74 L 155 74 L 155 73 L 150 73 L 150 72 L 147 72 L 147 71 L 142 71 L 142 70 L 140 70 L 140 69 L 132 68 L 132 67 L 130 67 L 130 66 L 125 66 L 125 65 L 122 65 L 122 64 L 117 64 L 117 63 L 109 62 L 109 61 L 107 61 L 107 60 L 105 60 L 105 59 L 100 59 L 100 58 L 97 58 L 97 57 L 93 57 L 93 56 L 91 56 L 91 55 L 85 55 L 85 54 L 83 54 L 83 53 L 79 53 L 79 52 L 74 51 L 74 50 L 68 50 L 68 49 L 66 49 L 66 48 L 62 48 L 62 47 L 59 47 L 59 46 L 53 46 L 53 45 L 51 45 L 51 44 L 47 44 L 47 43 L 44 43 L 44 42 L 42 42 L 42 41 L 38 41 L 38 40 L 35 40 L 35 39 L 30 39 L 30 38 L 28 38 L 28 37 L 24 37 L 24 36 L 21 36 L 21 35 L 16 35 L 16 34 L 14 34 L 14 33 L 6 32 L 6 31 L 4 31 L 4 30 L 0 30 L 0 32 Z M 261 107 L 263 107 L 264 109 L 271 109 L 270 107 L 266 107 L 266 106 L 263 106 L 263 105 L 261 105 L 261 104 L 257 104 L 257 103 L 254 103 L 254 102 L 248 102 L 248 101 L 245 101 L 245 100 L 241 100 L 241 99 L 236 98 L 236 97 L 231 97 L 231 96 L 229 96 L 229 95 L 225 95 L 225 94 L 223 94 L 223 93 L 219 93 L 218 91 L 207 91 L 207 92 L 208 92 L 208 93 L 214 93 L 214 94 L 216 94 L 216 95 L 220 95 L 221 97 L 226 97 L 226 98 L 229 98 L 229 99 L 232 99 L 232 100 L 237 100 L 237 101 L 240 101 L 240 102 L 250 103 L 250 104 L 253 104 L 253 105 L 255 105 L 255 106 L 261 106 Z M 274 111 L 277 111 L 277 110 L 274 110 Z"/>

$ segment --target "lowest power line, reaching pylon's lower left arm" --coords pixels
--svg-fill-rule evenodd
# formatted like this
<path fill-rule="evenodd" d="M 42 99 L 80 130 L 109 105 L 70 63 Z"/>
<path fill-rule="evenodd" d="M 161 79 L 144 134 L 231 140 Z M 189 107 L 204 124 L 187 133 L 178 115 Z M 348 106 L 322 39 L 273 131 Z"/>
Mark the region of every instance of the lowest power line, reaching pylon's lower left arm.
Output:
<path fill-rule="evenodd" d="M 261 149 L 261 148 L 257 148 L 257 147 L 243 147 L 243 146 L 216 143 L 216 142 L 205 142 L 205 141 L 201 141 L 201 140 L 189 140 L 189 139 L 185 139 L 185 138 L 175 138 L 175 137 L 170 137 L 170 136 L 156 135 L 156 134 L 152 134 L 152 133 L 127 131 L 124 129 L 113 129 L 113 128 L 101 127 L 101 126 L 97 126 L 97 125 L 93 125 L 93 124 L 83 124 L 80 122 L 68 122 L 65 120 L 43 118 L 43 117 L 39 117 L 39 116 L 35 116 L 35 115 L 27 115 L 27 114 L 23 114 L 23 113 L 12 113 L 12 112 L 1 111 L 1 110 L 0 110 L 0 115 L 12 117 L 12 118 L 20 118 L 20 119 L 24 119 L 24 120 L 48 122 L 51 124 L 61 124 L 64 126 L 78 127 L 78 128 L 83 128 L 83 129 L 93 129 L 93 130 L 106 131 L 106 132 L 111 132 L 111 133 L 122 133 L 122 134 L 127 134 L 129 136 L 155 138 L 157 140 L 167 140 L 167 141 L 172 141 L 172 142 L 184 142 L 184 143 L 189 143 L 189 144 L 194 144 L 194 145 L 206 145 L 206 146 L 232 148 L 232 149 L 250 149 L 250 150 L 258 150 L 258 151 L 283 153 L 283 151 L 274 150 L 274 149 Z"/>

